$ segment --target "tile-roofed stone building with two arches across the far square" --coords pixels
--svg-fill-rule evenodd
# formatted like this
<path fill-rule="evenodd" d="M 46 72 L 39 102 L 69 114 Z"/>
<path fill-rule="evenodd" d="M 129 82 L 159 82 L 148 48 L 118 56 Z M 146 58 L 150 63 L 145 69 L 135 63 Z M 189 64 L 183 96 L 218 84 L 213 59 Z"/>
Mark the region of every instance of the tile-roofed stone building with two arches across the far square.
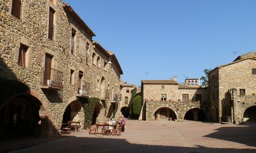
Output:
<path fill-rule="evenodd" d="M 141 95 L 143 107 L 140 120 L 182 121 L 208 118 L 207 88 L 178 84 L 175 79 L 142 80 Z"/>

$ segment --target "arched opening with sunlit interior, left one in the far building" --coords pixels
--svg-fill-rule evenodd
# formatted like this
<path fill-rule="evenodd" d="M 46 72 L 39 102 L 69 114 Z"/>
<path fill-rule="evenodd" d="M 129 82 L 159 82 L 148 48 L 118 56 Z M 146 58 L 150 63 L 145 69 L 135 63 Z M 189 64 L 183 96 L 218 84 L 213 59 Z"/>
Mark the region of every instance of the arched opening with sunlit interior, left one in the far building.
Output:
<path fill-rule="evenodd" d="M 175 112 L 168 108 L 168 107 L 162 107 L 160 109 L 157 109 L 154 114 L 155 120 L 176 120 L 177 116 Z"/>

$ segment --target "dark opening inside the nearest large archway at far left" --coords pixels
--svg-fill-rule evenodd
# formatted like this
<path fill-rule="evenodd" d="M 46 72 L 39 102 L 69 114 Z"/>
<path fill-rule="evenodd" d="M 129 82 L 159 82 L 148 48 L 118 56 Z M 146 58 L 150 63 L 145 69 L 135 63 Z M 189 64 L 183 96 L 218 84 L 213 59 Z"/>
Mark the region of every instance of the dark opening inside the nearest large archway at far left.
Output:
<path fill-rule="evenodd" d="M 29 94 L 7 101 L 0 110 L 1 137 L 40 137 L 44 123 L 40 119 L 40 110 L 43 110 L 41 102 Z"/>

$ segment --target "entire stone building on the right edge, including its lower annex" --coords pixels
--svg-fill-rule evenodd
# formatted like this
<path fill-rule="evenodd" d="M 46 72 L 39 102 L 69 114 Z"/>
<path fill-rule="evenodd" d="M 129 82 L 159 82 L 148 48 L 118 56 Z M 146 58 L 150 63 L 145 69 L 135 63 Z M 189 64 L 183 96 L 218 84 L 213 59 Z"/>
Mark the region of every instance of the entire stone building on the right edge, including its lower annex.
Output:
<path fill-rule="evenodd" d="M 256 121 L 256 52 L 238 56 L 209 73 L 212 121 Z"/>

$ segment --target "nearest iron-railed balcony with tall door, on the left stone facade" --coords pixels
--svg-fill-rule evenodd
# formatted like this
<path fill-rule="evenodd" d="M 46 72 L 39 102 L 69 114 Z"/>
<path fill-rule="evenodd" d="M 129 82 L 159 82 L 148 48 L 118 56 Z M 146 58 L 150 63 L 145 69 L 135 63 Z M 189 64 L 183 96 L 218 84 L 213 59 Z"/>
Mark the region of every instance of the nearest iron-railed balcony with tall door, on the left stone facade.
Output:
<path fill-rule="evenodd" d="M 63 88 L 62 72 L 44 67 L 42 67 L 41 72 L 41 89 L 61 90 Z"/>

